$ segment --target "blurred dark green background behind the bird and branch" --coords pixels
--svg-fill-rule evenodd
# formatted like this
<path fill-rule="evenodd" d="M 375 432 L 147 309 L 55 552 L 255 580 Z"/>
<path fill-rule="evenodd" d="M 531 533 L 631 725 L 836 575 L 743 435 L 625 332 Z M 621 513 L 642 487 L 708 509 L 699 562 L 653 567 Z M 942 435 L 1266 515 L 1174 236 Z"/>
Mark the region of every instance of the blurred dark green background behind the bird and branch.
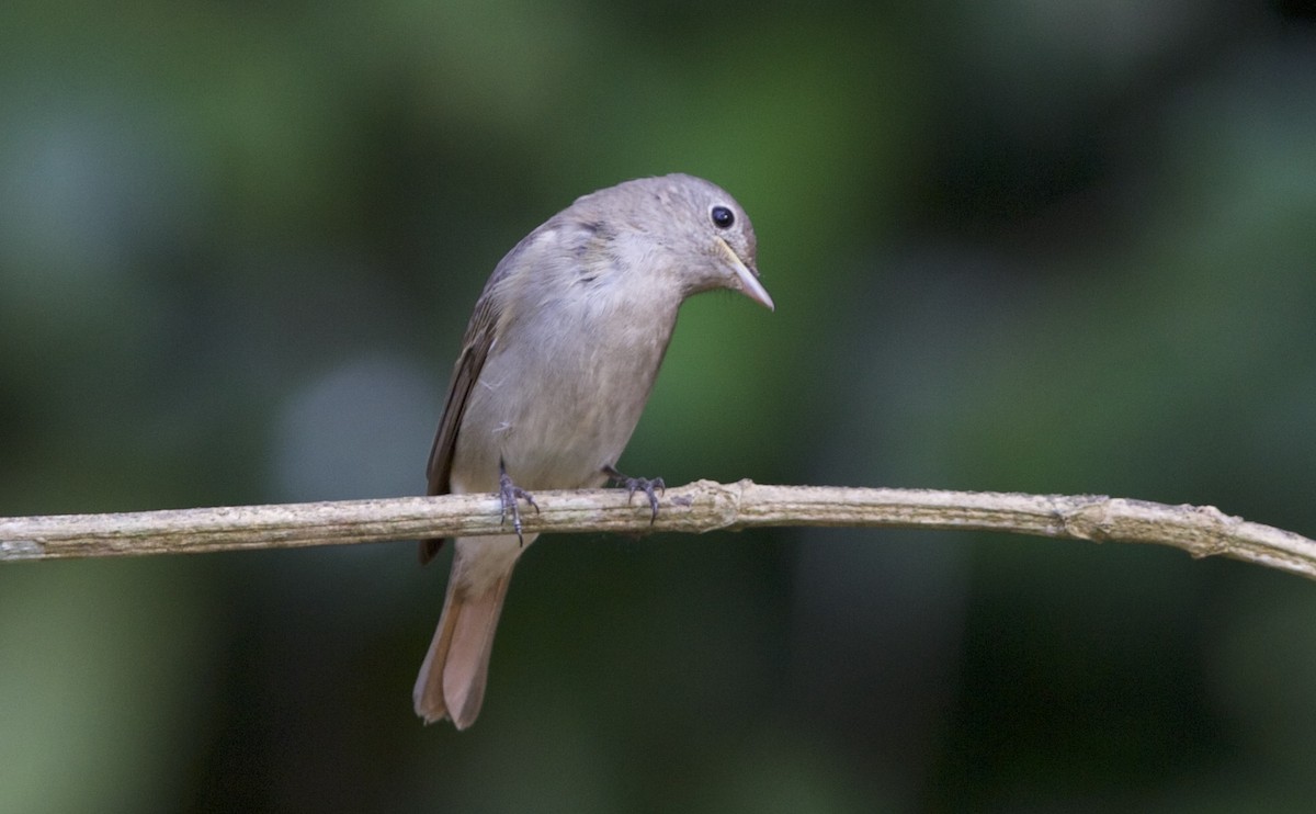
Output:
<path fill-rule="evenodd" d="M 418 494 L 494 265 L 687 171 L 622 468 L 1316 533 L 1312 4 L 0 7 L 0 514 Z M 1316 796 L 1316 585 L 1157 547 L 546 539 L 484 711 L 446 555 L 0 566 L 0 811 L 1240 811 Z"/>

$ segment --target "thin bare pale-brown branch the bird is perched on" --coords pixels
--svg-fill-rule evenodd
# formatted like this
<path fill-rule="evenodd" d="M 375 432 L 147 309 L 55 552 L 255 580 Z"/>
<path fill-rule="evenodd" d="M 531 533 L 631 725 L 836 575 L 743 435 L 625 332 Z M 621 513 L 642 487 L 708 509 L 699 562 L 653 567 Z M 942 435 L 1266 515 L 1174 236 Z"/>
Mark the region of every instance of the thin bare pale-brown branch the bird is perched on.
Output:
<path fill-rule="evenodd" d="M 1316 578 L 1316 541 L 1211 506 L 1101 495 L 761 486 L 697 481 L 646 501 L 621 490 L 536 493 L 526 532 L 707 532 L 761 526 L 1003 531 L 1044 537 L 1155 543 L 1195 557 L 1224 555 Z M 507 533 L 492 495 L 386 498 L 0 519 L 0 562 L 196 553 Z"/>

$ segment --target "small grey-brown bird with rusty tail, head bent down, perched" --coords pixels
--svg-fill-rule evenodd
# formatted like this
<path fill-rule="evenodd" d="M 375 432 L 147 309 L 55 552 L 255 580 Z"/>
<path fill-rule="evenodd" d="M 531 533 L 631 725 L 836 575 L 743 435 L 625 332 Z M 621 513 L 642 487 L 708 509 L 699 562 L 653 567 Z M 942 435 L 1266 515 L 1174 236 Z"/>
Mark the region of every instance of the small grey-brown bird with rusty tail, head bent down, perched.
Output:
<path fill-rule="evenodd" d="M 530 232 L 494 269 L 462 340 L 429 454 L 429 494 L 501 495 L 517 533 L 459 537 L 443 614 L 412 699 L 425 723 L 475 722 L 517 557 L 517 499 L 625 479 L 617 458 L 649 399 L 692 294 L 732 288 L 772 308 L 754 229 L 717 186 L 691 175 L 628 180 L 586 195 Z M 442 540 L 421 541 L 421 562 Z"/>

